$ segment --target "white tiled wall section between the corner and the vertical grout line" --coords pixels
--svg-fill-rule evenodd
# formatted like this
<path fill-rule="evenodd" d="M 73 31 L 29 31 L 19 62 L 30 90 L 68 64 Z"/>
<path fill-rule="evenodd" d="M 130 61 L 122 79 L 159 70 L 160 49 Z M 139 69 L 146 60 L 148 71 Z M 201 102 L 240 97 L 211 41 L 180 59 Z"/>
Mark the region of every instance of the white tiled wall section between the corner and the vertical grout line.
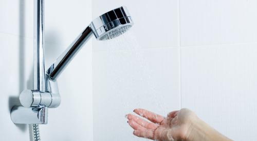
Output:
<path fill-rule="evenodd" d="M 124 117 L 135 108 L 166 115 L 180 109 L 178 1 L 93 1 L 93 17 L 126 6 L 134 26 L 93 41 L 94 140 L 133 136 Z"/>

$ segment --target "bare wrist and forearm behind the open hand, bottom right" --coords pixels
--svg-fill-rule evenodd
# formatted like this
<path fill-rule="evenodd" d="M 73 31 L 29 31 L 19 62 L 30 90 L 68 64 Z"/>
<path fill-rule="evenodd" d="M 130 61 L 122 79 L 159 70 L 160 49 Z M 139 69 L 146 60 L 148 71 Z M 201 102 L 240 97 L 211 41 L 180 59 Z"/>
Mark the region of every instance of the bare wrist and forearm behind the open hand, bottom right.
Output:
<path fill-rule="evenodd" d="M 208 124 L 206 124 L 203 120 L 197 119 L 192 122 L 189 130 L 188 130 L 188 141 L 231 141 L 231 139 L 222 135 Z"/>

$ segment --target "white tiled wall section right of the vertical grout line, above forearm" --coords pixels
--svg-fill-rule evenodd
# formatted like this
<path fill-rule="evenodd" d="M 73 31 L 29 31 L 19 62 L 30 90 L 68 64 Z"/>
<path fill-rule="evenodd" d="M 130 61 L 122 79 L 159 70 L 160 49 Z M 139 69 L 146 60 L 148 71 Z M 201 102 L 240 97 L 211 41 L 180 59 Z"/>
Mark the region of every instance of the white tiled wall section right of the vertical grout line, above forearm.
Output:
<path fill-rule="evenodd" d="M 180 1 L 182 107 L 256 140 L 257 1 Z M 189 24 L 190 23 L 190 24 Z"/>

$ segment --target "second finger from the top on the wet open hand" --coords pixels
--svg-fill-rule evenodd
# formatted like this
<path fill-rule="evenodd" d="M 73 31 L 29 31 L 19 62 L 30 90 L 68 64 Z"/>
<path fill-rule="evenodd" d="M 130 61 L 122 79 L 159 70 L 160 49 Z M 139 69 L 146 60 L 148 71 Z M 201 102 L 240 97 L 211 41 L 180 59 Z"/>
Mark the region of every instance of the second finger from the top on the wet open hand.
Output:
<path fill-rule="evenodd" d="M 127 119 L 133 119 L 140 126 L 148 128 L 148 129 L 155 130 L 158 127 L 157 124 L 146 122 L 144 119 L 139 118 L 138 116 L 135 116 L 133 114 L 128 114 Z"/>

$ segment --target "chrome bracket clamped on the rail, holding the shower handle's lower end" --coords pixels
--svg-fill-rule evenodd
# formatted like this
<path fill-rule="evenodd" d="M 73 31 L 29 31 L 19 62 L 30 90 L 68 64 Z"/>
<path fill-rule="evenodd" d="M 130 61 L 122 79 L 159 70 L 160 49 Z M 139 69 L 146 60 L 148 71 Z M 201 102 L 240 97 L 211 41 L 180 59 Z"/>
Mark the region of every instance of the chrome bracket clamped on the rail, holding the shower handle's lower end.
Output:
<path fill-rule="evenodd" d="M 20 94 L 22 106 L 14 106 L 11 119 L 15 124 L 47 124 L 48 108 L 57 108 L 61 104 L 61 96 L 57 81 L 50 80 L 46 74 L 45 92 L 24 90 Z"/>

